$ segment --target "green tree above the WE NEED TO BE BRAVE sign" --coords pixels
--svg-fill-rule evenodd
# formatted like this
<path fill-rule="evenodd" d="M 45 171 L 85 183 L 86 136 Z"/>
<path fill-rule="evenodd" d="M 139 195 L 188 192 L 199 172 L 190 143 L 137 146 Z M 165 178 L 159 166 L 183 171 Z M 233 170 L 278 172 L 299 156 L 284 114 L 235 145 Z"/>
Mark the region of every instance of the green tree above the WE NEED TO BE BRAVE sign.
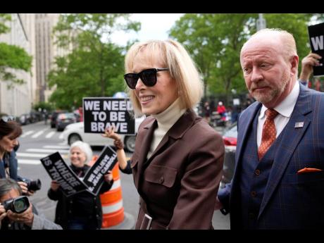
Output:
<path fill-rule="evenodd" d="M 57 44 L 72 45 L 73 50 L 56 57 L 56 68 L 48 75 L 49 86 L 56 87 L 50 101 L 57 108 L 82 106 L 83 97 L 112 96 L 125 89 L 125 48 L 111 43 L 110 35 L 116 30 L 139 30 L 139 23 L 128 18 L 129 14 L 61 15 L 55 27 Z"/>

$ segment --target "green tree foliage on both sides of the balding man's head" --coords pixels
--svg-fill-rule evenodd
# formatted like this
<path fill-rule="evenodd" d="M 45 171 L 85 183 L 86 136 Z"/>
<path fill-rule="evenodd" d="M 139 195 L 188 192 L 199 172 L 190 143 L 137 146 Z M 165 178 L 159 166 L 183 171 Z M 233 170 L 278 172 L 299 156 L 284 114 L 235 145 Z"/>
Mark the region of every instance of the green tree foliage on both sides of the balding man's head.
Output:
<path fill-rule="evenodd" d="M 247 92 L 239 63 L 244 42 L 256 32 L 258 14 L 185 14 L 170 30 L 170 37 L 186 46 L 204 78 L 205 96 Z M 324 20 L 323 14 L 263 14 L 268 28 L 294 35 L 300 59 L 309 54 L 307 25 Z M 300 66 L 299 66 L 300 68 Z"/>

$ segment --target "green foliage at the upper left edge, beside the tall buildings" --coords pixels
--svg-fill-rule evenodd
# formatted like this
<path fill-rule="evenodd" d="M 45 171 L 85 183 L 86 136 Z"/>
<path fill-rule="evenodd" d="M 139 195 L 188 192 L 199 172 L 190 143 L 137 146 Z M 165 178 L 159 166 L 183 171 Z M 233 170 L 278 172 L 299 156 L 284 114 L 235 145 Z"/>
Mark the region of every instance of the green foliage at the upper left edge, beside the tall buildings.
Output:
<path fill-rule="evenodd" d="M 6 33 L 10 29 L 6 22 L 11 20 L 10 14 L 0 13 L 0 34 Z M 14 84 L 23 84 L 25 81 L 18 79 L 8 68 L 15 70 L 30 71 L 32 67 L 32 56 L 27 54 L 25 49 L 0 42 L 0 80 L 11 81 L 8 87 Z"/>

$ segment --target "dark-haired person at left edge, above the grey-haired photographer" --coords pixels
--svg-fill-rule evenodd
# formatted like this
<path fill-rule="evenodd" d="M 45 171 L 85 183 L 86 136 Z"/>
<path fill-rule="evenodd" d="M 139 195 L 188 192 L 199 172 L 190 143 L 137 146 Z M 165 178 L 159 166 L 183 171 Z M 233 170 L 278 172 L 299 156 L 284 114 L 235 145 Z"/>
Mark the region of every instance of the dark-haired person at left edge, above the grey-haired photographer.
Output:
<path fill-rule="evenodd" d="M 34 192 L 28 190 L 27 183 L 20 181 L 23 178 L 18 175 L 18 161 L 15 156 L 19 147 L 18 137 L 22 133 L 23 130 L 13 116 L 0 118 L 0 178 L 18 181 L 23 193 L 31 196 Z"/>

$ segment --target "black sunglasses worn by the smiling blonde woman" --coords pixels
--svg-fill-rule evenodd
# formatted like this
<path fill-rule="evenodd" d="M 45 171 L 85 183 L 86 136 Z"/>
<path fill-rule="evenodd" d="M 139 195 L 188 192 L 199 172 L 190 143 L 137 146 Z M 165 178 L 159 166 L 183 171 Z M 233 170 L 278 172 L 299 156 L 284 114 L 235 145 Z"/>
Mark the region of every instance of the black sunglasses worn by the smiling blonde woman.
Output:
<path fill-rule="evenodd" d="M 156 85 L 157 77 L 156 73 L 161 71 L 169 70 L 168 68 L 149 68 L 142 70 L 140 73 L 126 73 L 124 79 L 130 87 L 130 89 L 135 89 L 139 77 L 141 78 L 143 84 L 148 87 Z"/>

